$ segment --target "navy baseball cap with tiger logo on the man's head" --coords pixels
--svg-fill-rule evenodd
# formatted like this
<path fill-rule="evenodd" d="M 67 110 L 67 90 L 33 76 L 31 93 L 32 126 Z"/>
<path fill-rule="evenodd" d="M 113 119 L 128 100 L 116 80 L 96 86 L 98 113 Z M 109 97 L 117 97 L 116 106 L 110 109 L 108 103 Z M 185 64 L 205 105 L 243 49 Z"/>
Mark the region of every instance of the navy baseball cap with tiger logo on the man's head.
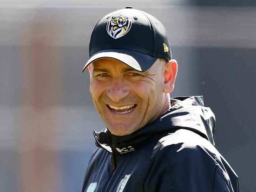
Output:
<path fill-rule="evenodd" d="M 147 71 L 172 53 L 163 24 L 152 15 L 128 6 L 105 15 L 95 25 L 89 45 L 90 63 L 101 58 L 119 60 L 136 71 Z"/>

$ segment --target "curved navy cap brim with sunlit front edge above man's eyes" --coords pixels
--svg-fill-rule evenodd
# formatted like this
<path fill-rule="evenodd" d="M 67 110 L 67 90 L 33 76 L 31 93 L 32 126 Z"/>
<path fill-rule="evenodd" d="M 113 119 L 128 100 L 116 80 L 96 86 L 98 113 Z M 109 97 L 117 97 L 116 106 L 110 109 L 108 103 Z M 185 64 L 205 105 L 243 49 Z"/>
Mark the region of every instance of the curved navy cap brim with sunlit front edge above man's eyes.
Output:
<path fill-rule="evenodd" d="M 136 71 L 147 71 L 157 60 L 157 58 L 133 51 L 128 49 L 105 49 L 100 50 L 90 56 L 88 62 L 84 65 L 84 70 L 90 63 L 102 59 L 102 58 L 112 58 L 125 63 L 129 67 L 135 69 Z"/>

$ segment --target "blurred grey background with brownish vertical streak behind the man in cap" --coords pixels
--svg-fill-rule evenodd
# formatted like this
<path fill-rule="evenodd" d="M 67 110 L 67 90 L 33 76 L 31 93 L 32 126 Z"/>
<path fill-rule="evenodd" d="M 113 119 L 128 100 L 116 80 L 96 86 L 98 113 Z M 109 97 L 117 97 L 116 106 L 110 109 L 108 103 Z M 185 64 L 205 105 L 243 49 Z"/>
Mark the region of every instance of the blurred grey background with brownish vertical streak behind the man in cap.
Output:
<path fill-rule="evenodd" d="M 92 130 L 104 127 L 81 71 L 95 23 L 125 6 L 164 24 L 178 61 L 171 97 L 204 95 L 217 119 L 217 149 L 241 191 L 256 191 L 256 2 L 249 0 L 0 0 L 0 191 L 81 190 Z"/>

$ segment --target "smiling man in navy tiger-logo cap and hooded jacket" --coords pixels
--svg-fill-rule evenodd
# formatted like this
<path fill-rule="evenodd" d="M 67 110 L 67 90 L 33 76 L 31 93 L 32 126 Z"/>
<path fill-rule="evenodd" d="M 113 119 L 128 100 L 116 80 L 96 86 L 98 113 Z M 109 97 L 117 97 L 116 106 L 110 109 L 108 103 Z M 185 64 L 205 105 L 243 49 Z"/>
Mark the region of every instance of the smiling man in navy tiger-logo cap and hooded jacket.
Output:
<path fill-rule="evenodd" d="M 170 99 L 177 74 L 164 26 L 126 7 L 93 29 L 88 67 L 106 123 L 82 192 L 238 192 L 214 147 L 215 116 L 202 97 Z"/>

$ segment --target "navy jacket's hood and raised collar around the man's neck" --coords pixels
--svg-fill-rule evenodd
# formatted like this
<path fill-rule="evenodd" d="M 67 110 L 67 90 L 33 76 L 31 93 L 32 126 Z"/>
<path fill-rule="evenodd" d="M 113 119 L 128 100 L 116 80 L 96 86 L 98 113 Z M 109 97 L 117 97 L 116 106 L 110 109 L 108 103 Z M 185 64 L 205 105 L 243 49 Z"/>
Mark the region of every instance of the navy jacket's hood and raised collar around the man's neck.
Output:
<path fill-rule="evenodd" d="M 129 135 L 112 135 L 107 127 L 101 132 L 93 130 L 96 145 L 110 153 L 129 153 L 149 137 L 178 129 L 191 130 L 214 145 L 215 116 L 210 108 L 204 107 L 203 97 L 175 97 L 172 100 L 178 102 L 163 115 Z"/>

